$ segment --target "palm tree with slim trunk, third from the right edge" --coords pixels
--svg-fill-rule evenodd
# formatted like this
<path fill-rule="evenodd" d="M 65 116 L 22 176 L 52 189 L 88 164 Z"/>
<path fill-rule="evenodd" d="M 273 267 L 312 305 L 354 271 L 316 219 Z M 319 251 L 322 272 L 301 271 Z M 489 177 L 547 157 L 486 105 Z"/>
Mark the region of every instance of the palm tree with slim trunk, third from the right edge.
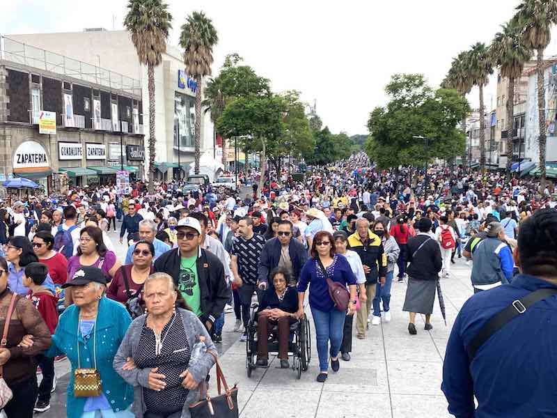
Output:
<path fill-rule="evenodd" d="M 469 77 L 473 86 L 480 88 L 480 170 L 485 170 L 485 107 L 483 104 L 483 86 L 489 82 L 493 72 L 492 57 L 489 48 L 483 42 L 472 45 L 469 51 Z"/>

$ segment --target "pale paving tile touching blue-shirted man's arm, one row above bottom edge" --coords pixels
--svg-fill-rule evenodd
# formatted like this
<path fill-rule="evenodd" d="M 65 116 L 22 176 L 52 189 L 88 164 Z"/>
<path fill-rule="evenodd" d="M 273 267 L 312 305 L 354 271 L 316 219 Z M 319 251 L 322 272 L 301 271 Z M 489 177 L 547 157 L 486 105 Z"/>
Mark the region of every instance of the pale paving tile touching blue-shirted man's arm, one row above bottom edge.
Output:
<path fill-rule="evenodd" d="M 432 357 L 437 351 L 431 353 Z M 441 393 L 441 362 L 395 362 L 387 360 L 389 370 L 389 387 L 391 394 Z"/>

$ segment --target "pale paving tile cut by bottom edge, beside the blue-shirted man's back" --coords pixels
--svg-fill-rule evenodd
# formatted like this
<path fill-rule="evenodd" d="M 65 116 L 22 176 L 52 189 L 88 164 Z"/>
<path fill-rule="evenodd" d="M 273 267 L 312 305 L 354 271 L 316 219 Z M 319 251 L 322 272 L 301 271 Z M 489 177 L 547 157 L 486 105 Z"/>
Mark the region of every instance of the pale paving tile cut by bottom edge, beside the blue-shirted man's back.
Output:
<path fill-rule="evenodd" d="M 447 412 L 448 404 L 443 394 L 438 396 L 392 394 L 391 402 L 393 418 L 452 417 Z"/>

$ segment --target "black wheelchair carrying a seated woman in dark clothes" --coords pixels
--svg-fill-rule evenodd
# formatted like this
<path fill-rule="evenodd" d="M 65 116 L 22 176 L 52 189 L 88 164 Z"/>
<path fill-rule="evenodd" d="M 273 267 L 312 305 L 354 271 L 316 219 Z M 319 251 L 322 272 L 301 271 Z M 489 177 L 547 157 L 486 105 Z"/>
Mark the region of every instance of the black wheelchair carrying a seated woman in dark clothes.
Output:
<path fill-rule="evenodd" d="M 253 370 L 266 369 L 268 366 L 258 366 L 257 359 L 257 309 L 258 303 L 251 304 L 251 314 L 247 329 L 246 340 L 246 372 L 251 377 Z M 267 341 L 270 353 L 278 353 L 278 325 L 272 327 Z M 311 359 L 310 325 L 306 314 L 290 325 L 290 339 L 288 341 L 288 357 L 292 359 L 290 368 L 296 372 L 296 378 L 301 378 L 301 372 L 307 371 Z"/>

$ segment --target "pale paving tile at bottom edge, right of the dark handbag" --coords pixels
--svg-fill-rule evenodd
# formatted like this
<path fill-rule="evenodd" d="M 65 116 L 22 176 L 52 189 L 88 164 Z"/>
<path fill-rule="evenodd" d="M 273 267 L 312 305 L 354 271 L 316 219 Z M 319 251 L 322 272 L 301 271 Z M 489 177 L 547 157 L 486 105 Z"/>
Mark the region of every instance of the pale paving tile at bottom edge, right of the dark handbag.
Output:
<path fill-rule="evenodd" d="M 317 384 L 318 387 L 322 385 Z M 313 418 L 320 391 L 283 388 L 259 389 L 240 414 L 241 418 Z M 319 416 L 319 415 L 317 415 Z"/>

